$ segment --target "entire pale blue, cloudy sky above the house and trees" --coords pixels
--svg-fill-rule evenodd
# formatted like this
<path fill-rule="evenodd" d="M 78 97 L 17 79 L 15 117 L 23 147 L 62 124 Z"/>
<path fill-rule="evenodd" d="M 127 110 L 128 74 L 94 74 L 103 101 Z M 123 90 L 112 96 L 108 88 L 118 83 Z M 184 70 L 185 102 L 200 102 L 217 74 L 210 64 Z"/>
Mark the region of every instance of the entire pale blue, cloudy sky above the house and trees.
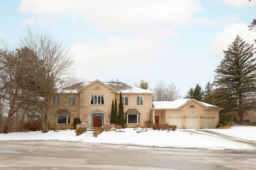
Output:
<path fill-rule="evenodd" d="M 73 56 L 83 80 L 174 83 L 185 95 L 214 80 L 223 50 L 253 44 L 256 0 L 0 0 L 0 40 L 13 48 L 28 28 Z"/>

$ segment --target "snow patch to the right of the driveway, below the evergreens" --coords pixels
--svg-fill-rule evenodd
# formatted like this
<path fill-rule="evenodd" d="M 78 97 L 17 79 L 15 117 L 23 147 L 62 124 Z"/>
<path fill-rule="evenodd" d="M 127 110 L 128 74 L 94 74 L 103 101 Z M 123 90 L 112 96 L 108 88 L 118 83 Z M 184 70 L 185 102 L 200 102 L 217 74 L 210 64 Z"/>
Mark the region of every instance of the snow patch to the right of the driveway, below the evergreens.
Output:
<path fill-rule="evenodd" d="M 209 129 L 211 131 L 235 137 L 243 140 L 256 142 L 256 127 L 255 126 L 233 126 L 230 129 Z"/>

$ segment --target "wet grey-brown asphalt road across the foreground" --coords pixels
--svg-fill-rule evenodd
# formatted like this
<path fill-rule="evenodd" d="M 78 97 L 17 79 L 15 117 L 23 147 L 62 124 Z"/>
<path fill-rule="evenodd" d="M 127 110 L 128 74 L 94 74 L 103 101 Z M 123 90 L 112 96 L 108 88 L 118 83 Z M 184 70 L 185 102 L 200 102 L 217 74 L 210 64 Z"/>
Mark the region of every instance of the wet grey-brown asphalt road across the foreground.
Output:
<path fill-rule="evenodd" d="M 0 170 L 256 170 L 256 150 L 2 141 Z"/>

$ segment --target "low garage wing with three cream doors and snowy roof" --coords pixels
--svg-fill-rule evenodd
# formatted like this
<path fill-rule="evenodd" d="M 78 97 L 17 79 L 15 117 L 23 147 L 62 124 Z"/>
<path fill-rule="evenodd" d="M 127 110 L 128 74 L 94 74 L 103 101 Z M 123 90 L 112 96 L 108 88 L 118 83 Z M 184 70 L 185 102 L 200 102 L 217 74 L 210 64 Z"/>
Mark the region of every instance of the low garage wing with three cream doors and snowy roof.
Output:
<path fill-rule="evenodd" d="M 195 99 L 153 102 L 154 124 L 176 125 L 177 128 L 215 128 L 222 108 Z"/>

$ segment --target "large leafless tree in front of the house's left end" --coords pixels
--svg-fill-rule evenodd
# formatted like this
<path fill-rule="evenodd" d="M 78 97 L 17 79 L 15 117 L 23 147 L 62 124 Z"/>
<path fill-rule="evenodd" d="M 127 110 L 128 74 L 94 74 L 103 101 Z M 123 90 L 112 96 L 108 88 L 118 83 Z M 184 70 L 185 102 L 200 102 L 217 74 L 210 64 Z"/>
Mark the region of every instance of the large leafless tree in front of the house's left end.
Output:
<path fill-rule="evenodd" d="M 70 74 L 71 56 L 51 36 L 29 30 L 21 41 L 22 46 L 30 50 L 23 60 L 25 64 L 21 69 L 27 74 L 21 83 L 30 99 L 30 113 L 41 123 L 43 132 L 48 132 L 52 98 L 57 92 L 63 92 L 66 87 L 77 83 Z"/>

